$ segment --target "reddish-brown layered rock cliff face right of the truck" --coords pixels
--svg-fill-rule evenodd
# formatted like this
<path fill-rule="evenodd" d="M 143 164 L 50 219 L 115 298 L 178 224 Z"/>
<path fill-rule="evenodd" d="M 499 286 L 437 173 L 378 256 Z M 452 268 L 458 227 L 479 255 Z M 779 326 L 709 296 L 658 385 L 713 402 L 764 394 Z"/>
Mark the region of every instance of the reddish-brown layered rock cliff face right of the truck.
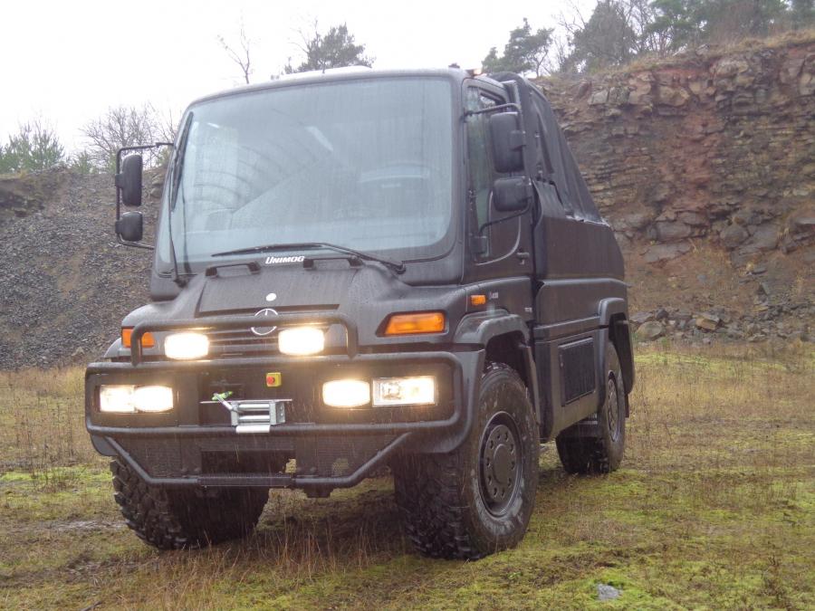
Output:
<path fill-rule="evenodd" d="M 616 230 L 639 310 L 673 308 L 680 316 L 665 330 L 686 335 L 681 319 L 703 313 L 731 337 L 806 335 L 813 37 L 541 85 Z"/>

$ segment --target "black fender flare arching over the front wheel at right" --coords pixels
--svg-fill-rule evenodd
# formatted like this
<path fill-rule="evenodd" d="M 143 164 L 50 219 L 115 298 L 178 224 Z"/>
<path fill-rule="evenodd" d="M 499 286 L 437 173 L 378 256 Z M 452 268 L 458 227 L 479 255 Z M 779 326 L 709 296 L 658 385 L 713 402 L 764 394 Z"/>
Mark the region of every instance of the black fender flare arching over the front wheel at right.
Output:
<path fill-rule="evenodd" d="M 456 346 L 473 346 L 484 349 L 491 339 L 512 334 L 520 334 L 522 338 L 518 348 L 523 353 L 523 365 L 526 371 L 519 373 L 525 374 L 528 380 L 529 394 L 532 399 L 532 406 L 535 409 L 535 418 L 540 424 L 543 416 L 543 406 L 538 391 L 538 370 L 532 356 L 529 327 L 520 316 L 510 314 L 506 310 L 467 314 L 458 323 L 453 340 Z"/>

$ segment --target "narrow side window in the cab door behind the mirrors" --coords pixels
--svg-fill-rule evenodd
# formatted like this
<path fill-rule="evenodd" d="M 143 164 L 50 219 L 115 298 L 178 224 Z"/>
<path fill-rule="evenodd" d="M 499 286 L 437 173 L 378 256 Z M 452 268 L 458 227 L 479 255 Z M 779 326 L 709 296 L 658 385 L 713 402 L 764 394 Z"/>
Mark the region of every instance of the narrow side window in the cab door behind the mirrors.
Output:
<path fill-rule="evenodd" d="M 500 103 L 502 103 L 500 100 L 489 97 L 479 89 L 471 87 L 466 91 L 466 110 L 484 110 Z M 470 224 L 473 236 L 478 234 L 479 227 L 490 221 L 490 196 L 493 183 L 495 178 L 501 176 L 495 172 L 493 166 L 489 116 L 489 113 L 482 113 L 467 117 L 467 191 L 471 207 Z M 484 234 L 488 239 L 486 251 L 478 255 L 481 260 L 489 259 L 492 250 L 489 245 L 491 229 L 488 227 Z"/>

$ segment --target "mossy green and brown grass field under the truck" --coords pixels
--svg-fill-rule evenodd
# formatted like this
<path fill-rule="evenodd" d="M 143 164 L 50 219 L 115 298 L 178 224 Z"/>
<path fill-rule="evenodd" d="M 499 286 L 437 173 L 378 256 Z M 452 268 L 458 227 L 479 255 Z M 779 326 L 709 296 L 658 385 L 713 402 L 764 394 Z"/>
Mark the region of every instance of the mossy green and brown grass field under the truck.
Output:
<path fill-rule="evenodd" d="M 0 373 L 0 392 L 0 607 L 815 608 L 801 345 L 641 349 L 622 468 L 569 476 L 545 446 L 522 545 L 478 562 L 413 553 L 387 478 L 273 492 L 251 539 L 158 552 L 122 525 L 82 371 Z"/>

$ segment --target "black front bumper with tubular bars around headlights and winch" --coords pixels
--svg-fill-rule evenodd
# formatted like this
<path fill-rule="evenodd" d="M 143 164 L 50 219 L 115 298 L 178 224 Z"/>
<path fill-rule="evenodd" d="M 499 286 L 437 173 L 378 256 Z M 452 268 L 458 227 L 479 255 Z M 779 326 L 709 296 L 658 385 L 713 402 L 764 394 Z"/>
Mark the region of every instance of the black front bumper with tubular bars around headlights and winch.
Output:
<path fill-rule="evenodd" d="M 94 363 L 86 372 L 86 426 L 98 451 L 118 455 L 154 485 L 315 493 L 355 485 L 394 453 L 449 451 L 461 443 L 474 413 L 483 353 L 355 352 Z M 265 374 L 272 371 L 282 375 L 281 387 L 265 387 Z M 323 380 L 428 372 L 439 381 L 439 401 L 430 408 L 346 411 L 321 405 Z M 164 414 L 103 414 L 98 409 L 101 384 L 166 384 L 175 390 L 176 406 Z M 236 388 L 245 398 L 292 399 L 286 422 L 264 433 L 237 434 L 225 408 L 204 401 L 221 387 Z M 293 473 L 285 468 L 292 458 Z"/>

